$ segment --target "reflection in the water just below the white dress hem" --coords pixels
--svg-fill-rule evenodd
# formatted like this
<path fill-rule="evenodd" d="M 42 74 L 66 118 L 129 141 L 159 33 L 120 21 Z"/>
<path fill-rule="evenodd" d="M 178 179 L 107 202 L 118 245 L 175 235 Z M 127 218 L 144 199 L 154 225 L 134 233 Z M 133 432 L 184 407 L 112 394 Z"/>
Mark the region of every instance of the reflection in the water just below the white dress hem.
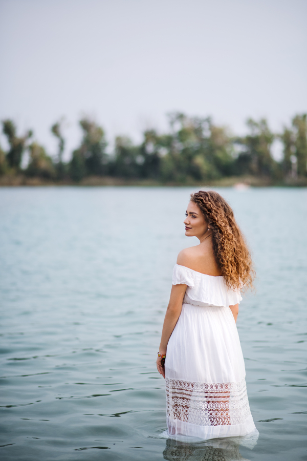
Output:
<path fill-rule="evenodd" d="M 168 461 L 249 461 L 239 453 L 239 445 L 230 439 L 186 444 L 168 438 L 163 457 Z"/>

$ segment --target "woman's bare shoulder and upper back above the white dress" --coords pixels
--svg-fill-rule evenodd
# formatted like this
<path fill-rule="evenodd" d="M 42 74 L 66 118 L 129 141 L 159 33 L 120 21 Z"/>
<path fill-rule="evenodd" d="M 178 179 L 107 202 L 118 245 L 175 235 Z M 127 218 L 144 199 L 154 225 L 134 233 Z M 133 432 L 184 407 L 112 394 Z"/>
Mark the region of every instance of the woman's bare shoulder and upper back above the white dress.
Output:
<path fill-rule="evenodd" d="M 188 267 L 202 274 L 220 276 L 221 270 L 218 268 L 212 245 L 196 245 L 184 248 L 178 255 L 177 264 Z"/>

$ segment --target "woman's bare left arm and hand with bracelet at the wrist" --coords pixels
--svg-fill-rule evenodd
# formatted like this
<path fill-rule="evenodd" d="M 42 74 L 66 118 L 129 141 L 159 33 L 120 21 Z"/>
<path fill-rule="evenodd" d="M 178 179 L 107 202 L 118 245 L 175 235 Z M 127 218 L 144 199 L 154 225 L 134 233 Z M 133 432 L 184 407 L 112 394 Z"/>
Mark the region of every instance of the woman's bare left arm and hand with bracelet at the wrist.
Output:
<path fill-rule="evenodd" d="M 162 328 L 161 343 L 159 347 L 160 354 L 166 354 L 168 340 L 181 314 L 182 301 L 186 289 L 187 285 L 185 284 L 172 285 L 171 287 L 170 299 Z M 159 373 L 163 375 L 163 378 L 165 378 L 164 361 L 162 361 L 159 357 L 157 359 L 157 368 Z"/>

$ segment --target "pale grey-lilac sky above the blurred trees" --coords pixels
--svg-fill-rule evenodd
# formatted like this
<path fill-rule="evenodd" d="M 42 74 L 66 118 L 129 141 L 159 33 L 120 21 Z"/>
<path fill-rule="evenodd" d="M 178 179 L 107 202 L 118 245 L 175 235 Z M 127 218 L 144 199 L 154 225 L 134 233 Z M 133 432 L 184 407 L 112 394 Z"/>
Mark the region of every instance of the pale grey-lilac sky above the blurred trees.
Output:
<path fill-rule="evenodd" d="M 173 111 L 278 131 L 307 111 L 306 19 L 306 0 L 0 0 L 0 119 L 55 155 L 64 117 L 66 158 L 84 115 L 110 149 Z"/>

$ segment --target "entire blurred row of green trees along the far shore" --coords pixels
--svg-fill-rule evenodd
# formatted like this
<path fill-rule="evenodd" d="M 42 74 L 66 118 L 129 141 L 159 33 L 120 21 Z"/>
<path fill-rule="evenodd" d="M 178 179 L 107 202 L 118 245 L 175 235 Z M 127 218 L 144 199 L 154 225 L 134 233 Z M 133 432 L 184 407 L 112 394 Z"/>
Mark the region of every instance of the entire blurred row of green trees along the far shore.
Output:
<path fill-rule="evenodd" d="M 80 145 L 63 161 L 65 137 L 63 121 L 54 123 L 52 134 L 58 149 L 48 155 L 34 140 L 33 131 L 18 135 L 11 119 L 2 121 L 8 141 L 5 152 L 0 146 L 0 175 L 24 174 L 53 181 L 79 183 L 88 176 L 129 180 L 150 179 L 161 183 L 185 184 L 231 176 L 251 175 L 272 182 L 297 182 L 307 177 L 307 114 L 298 114 L 281 133 L 273 133 L 266 119 L 247 120 L 246 136 L 234 136 L 210 117 L 169 114 L 167 133 L 146 130 L 141 143 L 117 136 L 114 151 L 107 153 L 105 132 L 96 121 L 82 118 Z M 272 144 L 282 143 L 282 158 L 272 156 Z M 29 162 L 22 168 L 23 156 Z"/>

